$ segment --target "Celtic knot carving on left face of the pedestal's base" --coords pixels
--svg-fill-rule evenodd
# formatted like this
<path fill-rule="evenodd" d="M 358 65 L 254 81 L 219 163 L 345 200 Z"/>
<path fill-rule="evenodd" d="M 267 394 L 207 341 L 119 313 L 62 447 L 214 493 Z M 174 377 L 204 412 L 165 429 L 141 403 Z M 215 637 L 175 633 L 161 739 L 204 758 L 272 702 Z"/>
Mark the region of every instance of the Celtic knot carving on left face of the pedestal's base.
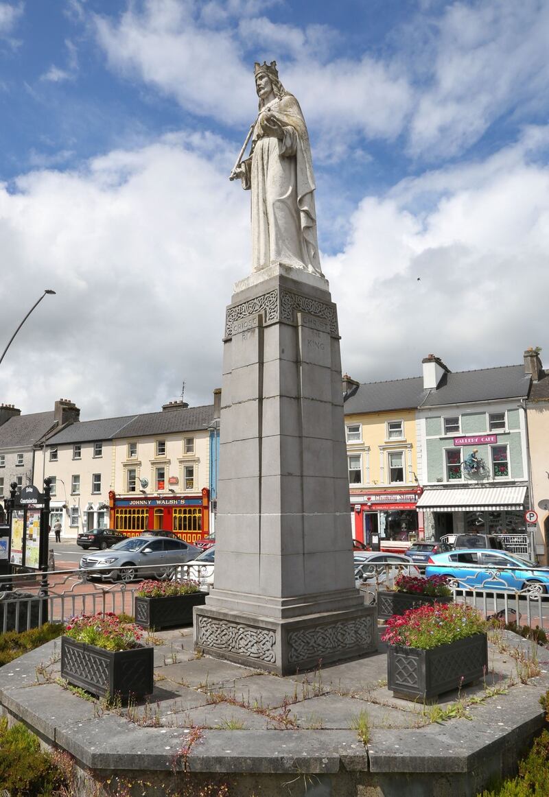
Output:
<path fill-rule="evenodd" d="M 268 628 L 243 626 L 228 620 L 215 620 L 210 617 L 197 617 L 198 630 L 196 644 L 225 650 L 262 662 L 274 663 L 276 635 Z"/>

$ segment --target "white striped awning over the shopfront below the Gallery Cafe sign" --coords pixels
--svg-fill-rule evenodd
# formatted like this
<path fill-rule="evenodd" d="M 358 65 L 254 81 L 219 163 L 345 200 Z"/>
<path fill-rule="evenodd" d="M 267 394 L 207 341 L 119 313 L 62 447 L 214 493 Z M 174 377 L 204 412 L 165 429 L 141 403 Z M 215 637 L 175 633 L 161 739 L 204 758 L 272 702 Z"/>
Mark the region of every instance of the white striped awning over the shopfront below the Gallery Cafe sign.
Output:
<path fill-rule="evenodd" d="M 523 509 L 526 485 L 515 487 L 462 487 L 425 489 L 418 509 L 431 512 L 495 511 L 497 509 Z"/>

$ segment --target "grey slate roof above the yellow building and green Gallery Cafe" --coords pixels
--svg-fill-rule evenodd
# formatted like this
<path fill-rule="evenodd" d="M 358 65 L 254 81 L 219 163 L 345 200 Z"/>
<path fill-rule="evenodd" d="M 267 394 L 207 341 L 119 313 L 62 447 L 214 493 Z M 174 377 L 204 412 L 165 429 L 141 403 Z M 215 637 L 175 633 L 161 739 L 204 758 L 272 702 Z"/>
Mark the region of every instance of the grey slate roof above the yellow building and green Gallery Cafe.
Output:
<path fill-rule="evenodd" d="M 445 374 L 439 387 L 431 391 L 423 389 L 421 376 L 390 382 L 367 382 L 357 391 L 351 391 L 345 402 L 345 414 L 525 398 L 529 387 L 530 377 L 525 375 L 523 365 Z"/>

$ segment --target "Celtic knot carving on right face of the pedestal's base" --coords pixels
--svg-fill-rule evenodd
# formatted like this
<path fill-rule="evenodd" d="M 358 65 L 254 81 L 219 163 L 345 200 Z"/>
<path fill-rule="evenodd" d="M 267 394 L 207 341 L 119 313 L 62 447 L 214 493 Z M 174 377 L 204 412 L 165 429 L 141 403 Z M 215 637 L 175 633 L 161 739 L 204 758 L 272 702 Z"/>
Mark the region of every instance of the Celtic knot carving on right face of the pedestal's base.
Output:
<path fill-rule="evenodd" d="M 314 626 L 290 631 L 288 661 L 292 664 L 310 658 L 322 658 L 337 650 L 348 650 L 373 644 L 373 620 L 360 617 L 331 626 Z"/>

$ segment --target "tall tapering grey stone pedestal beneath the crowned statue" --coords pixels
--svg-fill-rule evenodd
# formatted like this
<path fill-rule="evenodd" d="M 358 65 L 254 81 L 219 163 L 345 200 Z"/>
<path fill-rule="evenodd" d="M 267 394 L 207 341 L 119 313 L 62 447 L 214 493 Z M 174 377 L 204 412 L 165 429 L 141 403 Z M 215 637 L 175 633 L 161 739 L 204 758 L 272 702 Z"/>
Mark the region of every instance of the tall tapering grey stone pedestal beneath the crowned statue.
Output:
<path fill-rule="evenodd" d="M 278 266 L 237 283 L 223 354 L 215 589 L 196 646 L 279 674 L 373 652 L 327 281 Z"/>

